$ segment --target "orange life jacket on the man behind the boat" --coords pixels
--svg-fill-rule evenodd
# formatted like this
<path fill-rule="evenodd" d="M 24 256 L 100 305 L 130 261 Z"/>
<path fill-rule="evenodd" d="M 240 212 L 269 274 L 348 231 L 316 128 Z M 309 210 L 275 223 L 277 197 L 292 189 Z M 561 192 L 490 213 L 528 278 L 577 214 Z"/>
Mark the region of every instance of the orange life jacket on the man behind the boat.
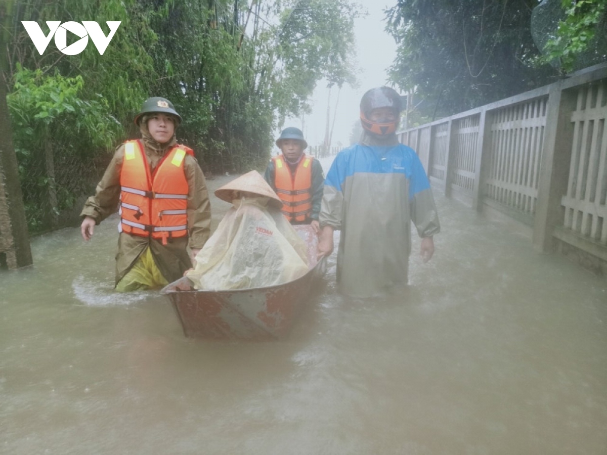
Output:
<path fill-rule="evenodd" d="M 312 213 L 312 158 L 304 155 L 297 163 L 295 175 L 283 155 L 273 157 L 274 186 L 282 200 L 282 213 L 290 223 L 305 221 Z"/>

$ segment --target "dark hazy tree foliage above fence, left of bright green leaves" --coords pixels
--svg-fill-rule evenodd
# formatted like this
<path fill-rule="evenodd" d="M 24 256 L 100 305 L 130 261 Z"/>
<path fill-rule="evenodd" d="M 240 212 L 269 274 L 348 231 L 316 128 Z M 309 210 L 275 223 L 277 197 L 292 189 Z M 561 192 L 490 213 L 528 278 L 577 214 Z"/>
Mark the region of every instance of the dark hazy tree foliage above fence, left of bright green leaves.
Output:
<path fill-rule="evenodd" d="M 398 43 L 390 81 L 423 100 L 430 118 L 534 89 L 557 72 L 535 66 L 535 0 L 398 0 L 387 31 Z"/>

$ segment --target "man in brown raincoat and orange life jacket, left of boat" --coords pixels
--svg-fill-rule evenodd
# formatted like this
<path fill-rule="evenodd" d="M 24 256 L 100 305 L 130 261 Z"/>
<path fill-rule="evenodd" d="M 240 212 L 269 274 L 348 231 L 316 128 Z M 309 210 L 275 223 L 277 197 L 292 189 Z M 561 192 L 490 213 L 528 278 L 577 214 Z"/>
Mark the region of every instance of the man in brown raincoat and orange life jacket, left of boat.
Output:
<path fill-rule="evenodd" d="M 160 288 L 180 278 L 211 225 L 205 176 L 194 150 L 175 139 L 181 116 L 171 101 L 146 99 L 134 121 L 141 139 L 116 149 L 81 212 L 81 234 L 90 240 L 95 225 L 118 206 L 117 291 Z"/>

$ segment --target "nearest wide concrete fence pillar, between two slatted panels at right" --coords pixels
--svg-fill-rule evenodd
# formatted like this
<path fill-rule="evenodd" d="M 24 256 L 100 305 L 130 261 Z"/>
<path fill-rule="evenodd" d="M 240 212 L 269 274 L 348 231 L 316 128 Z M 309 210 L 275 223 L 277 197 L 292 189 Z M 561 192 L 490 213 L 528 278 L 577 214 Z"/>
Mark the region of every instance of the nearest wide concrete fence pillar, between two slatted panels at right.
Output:
<path fill-rule="evenodd" d="M 541 150 L 540 177 L 534 219 L 533 246 L 537 251 L 552 251 L 554 227 L 563 224 L 561 198 L 567 192 L 574 124 L 575 90 L 562 90 L 552 84 L 548 93 L 546 130 Z"/>

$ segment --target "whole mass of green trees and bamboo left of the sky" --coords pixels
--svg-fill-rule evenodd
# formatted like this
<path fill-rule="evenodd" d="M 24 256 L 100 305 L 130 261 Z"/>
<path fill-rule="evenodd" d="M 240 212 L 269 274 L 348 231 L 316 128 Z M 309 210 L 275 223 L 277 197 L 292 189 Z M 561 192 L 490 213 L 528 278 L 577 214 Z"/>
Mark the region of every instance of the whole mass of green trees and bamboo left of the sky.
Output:
<path fill-rule="evenodd" d="M 3 2 L 4 83 L 34 232 L 92 190 L 89 171 L 137 136 L 132 118 L 148 96 L 175 104 L 178 140 L 205 172 L 243 172 L 265 165 L 274 130 L 310 110 L 318 81 L 354 79 L 349 0 Z M 106 21 L 121 24 L 103 55 L 90 40 L 78 55 L 51 40 L 40 55 L 21 21 L 45 35 L 46 21 L 96 21 L 105 35 Z"/>

